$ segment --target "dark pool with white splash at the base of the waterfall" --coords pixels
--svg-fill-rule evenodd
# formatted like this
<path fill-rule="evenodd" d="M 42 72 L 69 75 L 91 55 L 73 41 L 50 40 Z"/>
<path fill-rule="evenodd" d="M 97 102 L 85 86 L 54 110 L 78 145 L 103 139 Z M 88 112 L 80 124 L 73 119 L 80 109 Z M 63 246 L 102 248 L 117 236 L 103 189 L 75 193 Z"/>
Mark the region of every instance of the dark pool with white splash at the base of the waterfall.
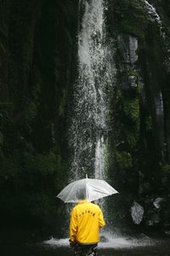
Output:
<path fill-rule="evenodd" d="M 1 256 L 71 256 L 68 239 L 54 239 L 40 243 L 0 244 Z M 170 240 L 153 240 L 147 236 L 138 239 L 108 237 L 99 242 L 99 256 L 170 256 Z"/>

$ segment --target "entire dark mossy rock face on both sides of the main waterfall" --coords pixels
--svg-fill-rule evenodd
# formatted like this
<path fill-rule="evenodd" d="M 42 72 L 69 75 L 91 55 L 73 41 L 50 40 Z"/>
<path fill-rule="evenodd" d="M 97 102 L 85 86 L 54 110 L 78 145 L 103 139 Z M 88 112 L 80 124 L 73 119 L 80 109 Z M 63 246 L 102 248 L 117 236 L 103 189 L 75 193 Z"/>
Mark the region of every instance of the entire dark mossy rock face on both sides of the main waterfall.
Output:
<path fill-rule="evenodd" d="M 170 3 L 105 4 L 116 67 L 109 154 L 109 176 L 120 192 L 111 201 L 114 218 L 130 223 L 138 201 L 144 207 L 140 224 L 168 231 Z M 54 232 L 63 207 L 54 195 L 68 175 L 78 9 L 73 0 L 0 3 L 0 214 Z M 156 198 L 163 198 L 160 207 L 153 205 Z"/>

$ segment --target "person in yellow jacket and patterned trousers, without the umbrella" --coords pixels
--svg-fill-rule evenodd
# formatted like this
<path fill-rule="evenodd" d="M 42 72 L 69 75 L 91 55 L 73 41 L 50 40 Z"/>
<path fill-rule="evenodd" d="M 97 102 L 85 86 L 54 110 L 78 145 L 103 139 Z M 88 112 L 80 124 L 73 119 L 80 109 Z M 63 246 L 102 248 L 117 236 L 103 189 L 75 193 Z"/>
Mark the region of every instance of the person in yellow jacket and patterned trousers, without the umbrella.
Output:
<path fill-rule="evenodd" d="M 72 209 L 70 244 L 77 256 L 97 255 L 99 228 L 105 226 L 99 206 L 82 199 Z"/>

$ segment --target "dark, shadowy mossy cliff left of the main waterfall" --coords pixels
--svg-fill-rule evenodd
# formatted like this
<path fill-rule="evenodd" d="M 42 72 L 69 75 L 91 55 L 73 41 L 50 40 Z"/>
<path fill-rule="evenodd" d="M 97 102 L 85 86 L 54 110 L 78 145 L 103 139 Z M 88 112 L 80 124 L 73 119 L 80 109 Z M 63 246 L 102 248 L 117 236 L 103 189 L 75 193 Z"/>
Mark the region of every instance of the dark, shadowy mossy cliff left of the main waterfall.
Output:
<path fill-rule="evenodd" d="M 77 1 L 4 0 L 0 20 L 1 222 L 57 233 Z"/>

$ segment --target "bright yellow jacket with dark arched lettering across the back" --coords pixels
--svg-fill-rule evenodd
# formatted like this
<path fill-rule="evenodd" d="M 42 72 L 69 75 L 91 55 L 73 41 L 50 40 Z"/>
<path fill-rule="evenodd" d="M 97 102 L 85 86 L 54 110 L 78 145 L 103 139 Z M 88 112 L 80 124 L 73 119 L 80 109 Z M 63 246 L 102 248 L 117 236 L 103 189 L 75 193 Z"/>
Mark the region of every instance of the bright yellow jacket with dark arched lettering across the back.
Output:
<path fill-rule="evenodd" d="M 82 244 L 99 242 L 99 228 L 105 226 L 103 213 L 99 206 L 80 201 L 72 209 L 70 222 L 70 241 Z"/>

